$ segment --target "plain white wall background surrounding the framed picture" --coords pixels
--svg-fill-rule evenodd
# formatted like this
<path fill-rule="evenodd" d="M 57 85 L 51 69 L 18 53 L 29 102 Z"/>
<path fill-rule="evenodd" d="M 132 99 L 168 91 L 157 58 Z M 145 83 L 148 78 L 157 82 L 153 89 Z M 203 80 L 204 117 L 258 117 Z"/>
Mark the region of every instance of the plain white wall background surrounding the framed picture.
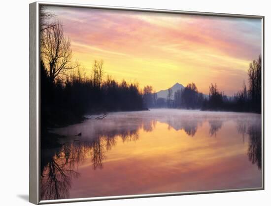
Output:
<path fill-rule="evenodd" d="M 206 195 L 70 203 L 69 206 L 269 205 L 271 200 L 271 5 L 269 0 L 56 0 L 58 2 L 265 15 L 265 190 Z M 0 7 L 0 205 L 28 203 L 29 3 L 2 0 Z M 223 179 L 221 179 L 223 181 Z M 63 204 L 60 204 L 63 205 Z"/>

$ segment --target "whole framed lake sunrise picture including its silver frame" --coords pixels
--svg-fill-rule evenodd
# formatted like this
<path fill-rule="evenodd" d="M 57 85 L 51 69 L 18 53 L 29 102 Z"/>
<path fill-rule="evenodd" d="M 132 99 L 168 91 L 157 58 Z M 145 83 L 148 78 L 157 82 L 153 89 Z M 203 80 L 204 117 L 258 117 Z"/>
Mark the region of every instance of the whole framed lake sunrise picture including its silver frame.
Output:
<path fill-rule="evenodd" d="M 264 16 L 30 4 L 30 202 L 264 189 Z"/>

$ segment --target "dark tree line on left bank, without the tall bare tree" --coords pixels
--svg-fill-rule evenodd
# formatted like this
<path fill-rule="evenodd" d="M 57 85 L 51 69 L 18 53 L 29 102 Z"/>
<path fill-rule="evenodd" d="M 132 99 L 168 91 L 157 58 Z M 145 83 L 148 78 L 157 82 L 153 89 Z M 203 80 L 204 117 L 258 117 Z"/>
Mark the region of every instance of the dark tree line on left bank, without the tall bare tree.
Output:
<path fill-rule="evenodd" d="M 136 83 L 121 83 L 109 76 L 103 81 L 102 61 L 95 61 L 93 76 L 87 78 L 80 70 L 66 80 L 52 81 L 44 63 L 40 64 L 41 118 L 44 128 L 75 123 L 85 114 L 110 111 L 143 110 L 143 98 Z"/>

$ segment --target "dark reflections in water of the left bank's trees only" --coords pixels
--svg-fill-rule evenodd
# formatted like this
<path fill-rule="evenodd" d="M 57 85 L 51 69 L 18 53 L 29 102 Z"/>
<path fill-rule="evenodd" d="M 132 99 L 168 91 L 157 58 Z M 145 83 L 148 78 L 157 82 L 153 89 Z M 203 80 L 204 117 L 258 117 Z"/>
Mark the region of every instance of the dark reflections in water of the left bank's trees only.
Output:
<path fill-rule="evenodd" d="M 148 130 L 153 123 L 148 124 Z M 111 150 L 116 144 L 116 137 L 120 136 L 122 141 L 136 141 L 137 131 L 134 130 L 112 130 L 97 134 L 92 141 L 74 141 L 66 143 L 61 148 L 46 149 L 41 151 L 41 200 L 66 199 L 69 197 L 71 178 L 76 178 L 76 172 L 87 155 L 91 156 L 93 169 L 102 168 L 105 159 L 105 150 Z M 45 149 L 44 149 L 45 150 Z"/>

